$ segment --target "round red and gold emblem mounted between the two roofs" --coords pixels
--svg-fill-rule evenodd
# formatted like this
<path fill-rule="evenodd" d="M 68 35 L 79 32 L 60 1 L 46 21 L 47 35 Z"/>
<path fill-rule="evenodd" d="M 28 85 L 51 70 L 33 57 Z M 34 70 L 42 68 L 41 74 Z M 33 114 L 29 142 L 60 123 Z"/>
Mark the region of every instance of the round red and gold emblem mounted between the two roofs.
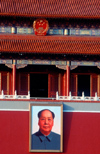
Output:
<path fill-rule="evenodd" d="M 46 35 L 49 28 L 48 21 L 45 19 L 37 19 L 33 23 L 33 28 L 35 35 Z"/>

